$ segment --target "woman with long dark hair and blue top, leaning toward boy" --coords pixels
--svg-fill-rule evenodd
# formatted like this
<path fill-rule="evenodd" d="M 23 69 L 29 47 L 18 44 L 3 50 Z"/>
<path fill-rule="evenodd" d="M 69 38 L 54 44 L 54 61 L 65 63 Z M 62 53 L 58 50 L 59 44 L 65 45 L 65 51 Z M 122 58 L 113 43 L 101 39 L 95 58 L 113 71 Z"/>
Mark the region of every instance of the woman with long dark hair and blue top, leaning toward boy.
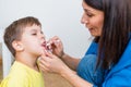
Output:
<path fill-rule="evenodd" d="M 59 38 L 53 37 L 52 53 L 41 57 L 41 70 L 60 74 L 74 87 L 131 87 L 130 3 L 83 0 L 81 22 L 95 37 L 85 57 L 80 60 L 68 55 L 62 44 L 55 41 Z"/>

